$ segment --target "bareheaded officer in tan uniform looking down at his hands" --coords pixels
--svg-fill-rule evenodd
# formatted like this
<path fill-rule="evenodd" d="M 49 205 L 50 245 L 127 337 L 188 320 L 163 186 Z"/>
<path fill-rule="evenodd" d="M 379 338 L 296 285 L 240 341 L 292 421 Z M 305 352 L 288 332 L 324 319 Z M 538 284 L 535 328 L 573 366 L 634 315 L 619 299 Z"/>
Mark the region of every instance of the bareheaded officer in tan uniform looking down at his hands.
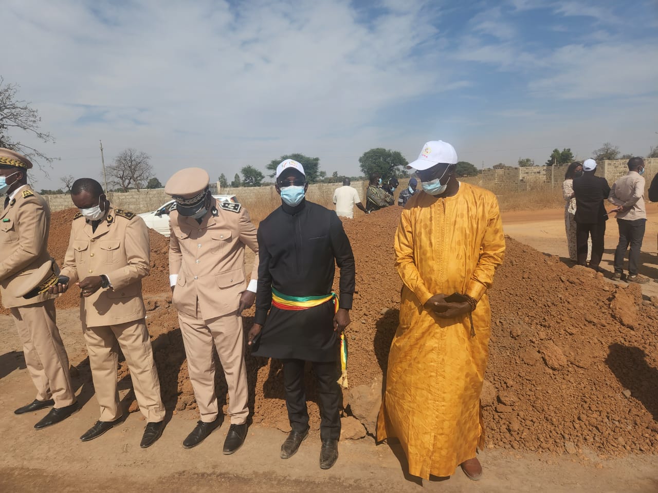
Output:
<path fill-rule="evenodd" d="M 140 446 L 155 443 L 164 429 L 160 381 L 153 361 L 141 298 L 141 279 L 149 274 L 149 230 L 132 212 L 115 209 L 100 183 L 80 178 L 71 187 L 76 214 L 61 275 L 82 291 L 80 319 L 89 353 L 91 377 L 101 405 L 99 421 L 80 437 L 86 442 L 122 421 L 116 390 L 118 348 L 132 379 L 139 410 L 147 420 Z M 63 292 L 66 285 L 53 291 Z M 59 291 L 58 291 L 59 290 Z"/>

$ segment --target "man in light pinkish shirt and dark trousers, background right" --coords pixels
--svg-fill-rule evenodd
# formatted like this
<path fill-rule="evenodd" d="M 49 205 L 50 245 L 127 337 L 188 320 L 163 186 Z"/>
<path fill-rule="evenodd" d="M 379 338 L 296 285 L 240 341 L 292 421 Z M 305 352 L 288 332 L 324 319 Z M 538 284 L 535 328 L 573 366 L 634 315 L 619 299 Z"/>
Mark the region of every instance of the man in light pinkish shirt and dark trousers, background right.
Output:
<path fill-rule="evenodd" d="M 615 250 L 615 273 L 613 279 L 621 279 L 624 273 L 624 255 L 630 243 L 628 254 L 629 283 L 645 284 L 647 277 L 638 275 L 640 266 L 640 248 L 644 239 L 644 229 L 647 222 L 647 210 L 644 206 L 644 160 L 630 158 L 628 160 L 628 173 L 620 177 L 610 192 L 609 201 L 617 206 L 611 212 L 617 212 L 619 225 L 619 244 Z"/>

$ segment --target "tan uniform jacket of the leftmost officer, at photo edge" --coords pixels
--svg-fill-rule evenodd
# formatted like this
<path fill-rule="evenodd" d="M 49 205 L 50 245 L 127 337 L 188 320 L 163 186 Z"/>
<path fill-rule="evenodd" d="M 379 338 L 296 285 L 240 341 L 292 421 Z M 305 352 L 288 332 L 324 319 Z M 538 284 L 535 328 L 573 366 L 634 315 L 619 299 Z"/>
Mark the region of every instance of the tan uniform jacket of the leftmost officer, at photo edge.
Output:
<path fill-rule="evenodd" d="M 49 229 L 50 208 L 30 187 L 20 190 L 0 214 L 0 293 L 6 308 L 55 298 L 46 293 L 26 300 L 15 294 L 26 275 L 51 259 L 47 250 Z"/>

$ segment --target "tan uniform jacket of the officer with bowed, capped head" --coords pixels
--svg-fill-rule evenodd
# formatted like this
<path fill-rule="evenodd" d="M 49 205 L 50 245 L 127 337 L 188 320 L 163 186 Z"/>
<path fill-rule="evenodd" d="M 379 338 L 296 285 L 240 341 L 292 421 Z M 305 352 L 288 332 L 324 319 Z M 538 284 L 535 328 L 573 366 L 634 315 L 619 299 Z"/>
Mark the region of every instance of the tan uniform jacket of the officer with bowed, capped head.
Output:
<path fill-rule="evenodd" d="M 170 212 L 169 271 L 178 274 L 172 303 L 179 312 L 204 320 L 236 312 L 246 288 L 245 245 L 256 254 L 251 279 L 258 279 L 258 241 L 249 213 L 226 210 L 216 200 L 217 216 L 206 214 L 201 224 Z"/>

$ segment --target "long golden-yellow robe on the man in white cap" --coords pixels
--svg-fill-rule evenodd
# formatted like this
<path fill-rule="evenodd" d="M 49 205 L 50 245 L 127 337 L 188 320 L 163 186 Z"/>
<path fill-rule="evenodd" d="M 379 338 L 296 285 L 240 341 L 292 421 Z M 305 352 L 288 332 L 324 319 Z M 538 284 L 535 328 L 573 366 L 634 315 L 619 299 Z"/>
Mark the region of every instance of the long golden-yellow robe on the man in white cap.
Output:
<path fill-rule="evenodd" d="M 480 187 L 460 183 L 445 199 L 418 193 L 402 212 L 395 266 L 404 286 L 377 438 L 399 438 L 412 475 L 449 476 L 476 455 L 491 334 L 486 291 L 504 252 L 498 202 Z M 475 337 L 468 315 L 441 319 L 423 308 L 434 294 L 455 292 L 478 300 Z"/>

